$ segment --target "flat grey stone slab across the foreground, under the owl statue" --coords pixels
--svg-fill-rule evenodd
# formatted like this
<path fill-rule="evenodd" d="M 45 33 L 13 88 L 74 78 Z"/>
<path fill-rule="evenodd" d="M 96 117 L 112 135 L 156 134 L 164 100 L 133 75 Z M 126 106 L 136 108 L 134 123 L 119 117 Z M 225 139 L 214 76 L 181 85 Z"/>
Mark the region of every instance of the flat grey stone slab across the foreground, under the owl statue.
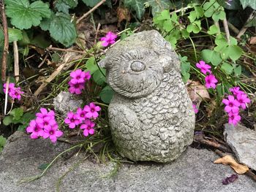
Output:
<path fill-rule="evenodd" d="M 256 183 L 246 175 L 222 185 L 225 177 L 234 174 L 229 166 L 214 164 L 219 156 L 208 150 L 188 147 L 178 160 L 171 164 L 96 164 L 84 160 L 85 154 L 62 157 L 46 172 L 45 176 L 31 183 L 19 184 L 22 177 L 41 173 L 38 166 L 49 163 L 69 145 L 48 139 L 29 139 L 29 135 L 16 132 L 4 147 L 0 156 L 0 191 L 37 192 L 56 191 L 56 182 L 63 178 L 61 192 L 254 192 Z"/>

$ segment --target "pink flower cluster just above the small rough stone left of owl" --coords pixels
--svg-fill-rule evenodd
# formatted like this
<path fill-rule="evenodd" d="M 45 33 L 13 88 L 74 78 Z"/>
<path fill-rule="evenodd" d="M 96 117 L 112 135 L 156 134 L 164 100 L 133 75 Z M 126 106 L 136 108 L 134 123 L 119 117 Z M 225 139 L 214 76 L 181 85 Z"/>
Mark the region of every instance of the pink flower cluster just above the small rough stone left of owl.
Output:
<path fill-rule="evenodd" d="M 83 72 L 81 69 L 77 69 L 74 72 L 70 73 L 71 80 L 68 82 L 69 84 L 69 92 L 72 94 L 79 95 L 82 93 L 82 90 L 85 88 L 84 83 L 86 80 L 90 80 L 91 74 L 90 72 Z"/>

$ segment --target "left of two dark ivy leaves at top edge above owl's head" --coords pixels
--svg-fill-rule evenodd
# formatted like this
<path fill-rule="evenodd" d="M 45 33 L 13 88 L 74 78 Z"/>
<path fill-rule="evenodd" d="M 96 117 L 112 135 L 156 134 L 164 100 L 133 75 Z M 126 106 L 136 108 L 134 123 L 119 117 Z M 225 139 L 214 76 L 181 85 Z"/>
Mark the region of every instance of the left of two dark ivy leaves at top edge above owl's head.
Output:
<path fill-rule="evenodd" d="M 144 3 L 145 0 L 124 0 L 124 5 L 134 10 L 138 19 L 141 19 L 144 15 Z"/>

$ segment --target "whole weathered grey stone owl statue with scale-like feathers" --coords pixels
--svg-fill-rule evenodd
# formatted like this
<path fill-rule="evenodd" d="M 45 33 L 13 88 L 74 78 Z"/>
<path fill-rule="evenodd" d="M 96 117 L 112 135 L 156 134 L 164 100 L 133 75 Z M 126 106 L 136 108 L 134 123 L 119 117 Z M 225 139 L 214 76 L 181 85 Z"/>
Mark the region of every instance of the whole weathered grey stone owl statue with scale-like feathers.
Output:
<path fill-rule="evenodd" d="M 113 45 L 99 65 L 115 91 L 108 117 L 118 152 L 132 161 L 178 158 L 192 143 L 195 112 L 170 43 L 143 31 Z"/>

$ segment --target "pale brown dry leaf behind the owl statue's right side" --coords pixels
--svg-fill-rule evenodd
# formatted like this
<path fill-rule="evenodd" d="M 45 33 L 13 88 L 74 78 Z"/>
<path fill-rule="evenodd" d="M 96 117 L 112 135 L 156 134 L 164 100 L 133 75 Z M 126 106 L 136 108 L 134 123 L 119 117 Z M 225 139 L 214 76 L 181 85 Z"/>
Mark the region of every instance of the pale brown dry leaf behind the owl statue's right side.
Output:
<path fill-rule="evenodd" d="M 200 103 L 202 100 L 210 100 L 206 87 L 198 81 L 188 80 L 187 91 L 192 102 Z"/>

